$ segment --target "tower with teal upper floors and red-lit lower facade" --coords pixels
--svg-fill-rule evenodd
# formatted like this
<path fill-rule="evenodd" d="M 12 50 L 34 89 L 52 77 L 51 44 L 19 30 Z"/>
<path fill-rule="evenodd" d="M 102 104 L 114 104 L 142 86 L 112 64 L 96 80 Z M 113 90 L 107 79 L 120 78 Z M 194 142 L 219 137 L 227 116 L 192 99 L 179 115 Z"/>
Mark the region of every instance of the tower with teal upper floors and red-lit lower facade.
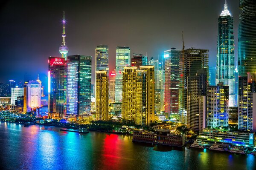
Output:
<path fill-rule="evenodd" d="M 179 61 L 181 50 L 176 48 L 164 52 L 165 60 L 165 84 L 164 106 L 168 118 L 180 119 L 179 113 Z"/>

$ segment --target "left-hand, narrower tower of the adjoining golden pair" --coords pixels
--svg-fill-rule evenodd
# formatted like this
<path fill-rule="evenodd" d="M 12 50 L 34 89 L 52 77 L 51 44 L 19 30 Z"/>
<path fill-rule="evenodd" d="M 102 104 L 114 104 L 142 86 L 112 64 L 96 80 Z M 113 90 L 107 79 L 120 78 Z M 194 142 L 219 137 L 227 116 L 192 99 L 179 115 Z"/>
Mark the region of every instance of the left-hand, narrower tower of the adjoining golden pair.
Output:
<path fill-rule="evenodd" d="M 135 121 L 136 115 L 136 66 L 124 67 L 122 79 L 122 117 Z"/>

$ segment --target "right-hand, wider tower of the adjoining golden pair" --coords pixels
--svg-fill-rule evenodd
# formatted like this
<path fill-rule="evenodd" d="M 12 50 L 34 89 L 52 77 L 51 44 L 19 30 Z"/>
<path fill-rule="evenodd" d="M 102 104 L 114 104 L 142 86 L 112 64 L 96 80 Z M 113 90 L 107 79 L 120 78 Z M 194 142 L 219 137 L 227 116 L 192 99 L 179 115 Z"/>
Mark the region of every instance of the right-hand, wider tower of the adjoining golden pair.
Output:
<path fill-rule="evenodd" d="M 135 124 L 150 126 L 154 123 L 154 66 L 140 66 L 136 72 Z"/>

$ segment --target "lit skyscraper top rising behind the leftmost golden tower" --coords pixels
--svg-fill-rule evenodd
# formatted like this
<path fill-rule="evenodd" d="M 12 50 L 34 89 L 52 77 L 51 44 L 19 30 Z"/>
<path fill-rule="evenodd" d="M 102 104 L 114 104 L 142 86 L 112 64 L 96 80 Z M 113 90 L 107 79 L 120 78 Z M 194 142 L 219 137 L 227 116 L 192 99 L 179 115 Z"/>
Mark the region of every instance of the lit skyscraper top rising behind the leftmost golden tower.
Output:
<path fill-rule="evenodd" d="M 99 45 L 95 49 L 95 70 L 96 71 L 106 71 L 108 70 L 108 46 Z M 108 76 L 108 75 L 107 75 Z"/>

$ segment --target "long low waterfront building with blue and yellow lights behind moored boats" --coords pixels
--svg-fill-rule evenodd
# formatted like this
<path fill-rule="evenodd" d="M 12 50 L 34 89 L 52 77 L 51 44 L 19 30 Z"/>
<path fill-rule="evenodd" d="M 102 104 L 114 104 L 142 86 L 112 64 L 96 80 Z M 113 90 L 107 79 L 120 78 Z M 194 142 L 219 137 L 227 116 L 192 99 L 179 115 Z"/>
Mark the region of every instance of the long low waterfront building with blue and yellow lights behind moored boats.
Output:
<path fill-rule="evenodd" d="M 204 144 L 209 143 L 226 143 L 238 146 L 253 147 L 254 133 L 249 132 L 221 132 L 214 129 L 204 129 L 199 132 L 196 138 Z"/>

